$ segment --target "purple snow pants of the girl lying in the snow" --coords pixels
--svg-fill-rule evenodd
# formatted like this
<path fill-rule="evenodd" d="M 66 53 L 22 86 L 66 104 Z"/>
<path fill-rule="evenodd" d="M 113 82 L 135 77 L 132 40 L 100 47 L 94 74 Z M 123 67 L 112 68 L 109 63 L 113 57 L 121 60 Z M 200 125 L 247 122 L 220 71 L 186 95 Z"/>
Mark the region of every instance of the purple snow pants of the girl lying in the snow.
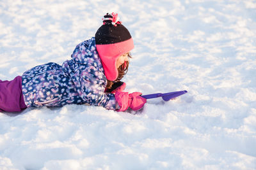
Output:
<path fill-rule="evenodd" d="M 0 80 L 0 111 L 21 111 L 27 108 L 21 87 L 21 76 L 12 81 Z"/>

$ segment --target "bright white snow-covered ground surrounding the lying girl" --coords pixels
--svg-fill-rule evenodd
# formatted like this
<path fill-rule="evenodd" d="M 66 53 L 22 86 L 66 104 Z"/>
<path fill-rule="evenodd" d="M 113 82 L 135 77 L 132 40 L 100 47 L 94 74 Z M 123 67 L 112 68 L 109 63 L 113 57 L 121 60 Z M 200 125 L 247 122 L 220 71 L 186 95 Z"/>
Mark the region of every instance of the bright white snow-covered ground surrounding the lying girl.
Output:
<path fill-rule="evenodd" d="M 0 169 L 256 169 L 255 0 L 1 0 L 0 79 L 70 59 L 111 11 L 135 43 L 126 90 L 188 94 L 0 113 Z"/>

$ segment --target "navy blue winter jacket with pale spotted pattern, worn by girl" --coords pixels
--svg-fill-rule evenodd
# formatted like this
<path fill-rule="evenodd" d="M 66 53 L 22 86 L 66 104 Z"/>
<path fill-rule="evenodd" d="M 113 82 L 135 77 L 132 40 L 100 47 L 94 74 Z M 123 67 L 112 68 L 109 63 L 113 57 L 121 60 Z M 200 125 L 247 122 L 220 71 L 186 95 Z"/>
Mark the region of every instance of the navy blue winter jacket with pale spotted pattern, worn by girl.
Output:
<path fill-rule="evenodd" d="M 113 94 L 104 93 L 107 79 L 95 47 L 95 38 L 79 43 L 71 60 L 33 67 L 22 74 L 26 106 L 90 104 L 116 109 Z"/>

